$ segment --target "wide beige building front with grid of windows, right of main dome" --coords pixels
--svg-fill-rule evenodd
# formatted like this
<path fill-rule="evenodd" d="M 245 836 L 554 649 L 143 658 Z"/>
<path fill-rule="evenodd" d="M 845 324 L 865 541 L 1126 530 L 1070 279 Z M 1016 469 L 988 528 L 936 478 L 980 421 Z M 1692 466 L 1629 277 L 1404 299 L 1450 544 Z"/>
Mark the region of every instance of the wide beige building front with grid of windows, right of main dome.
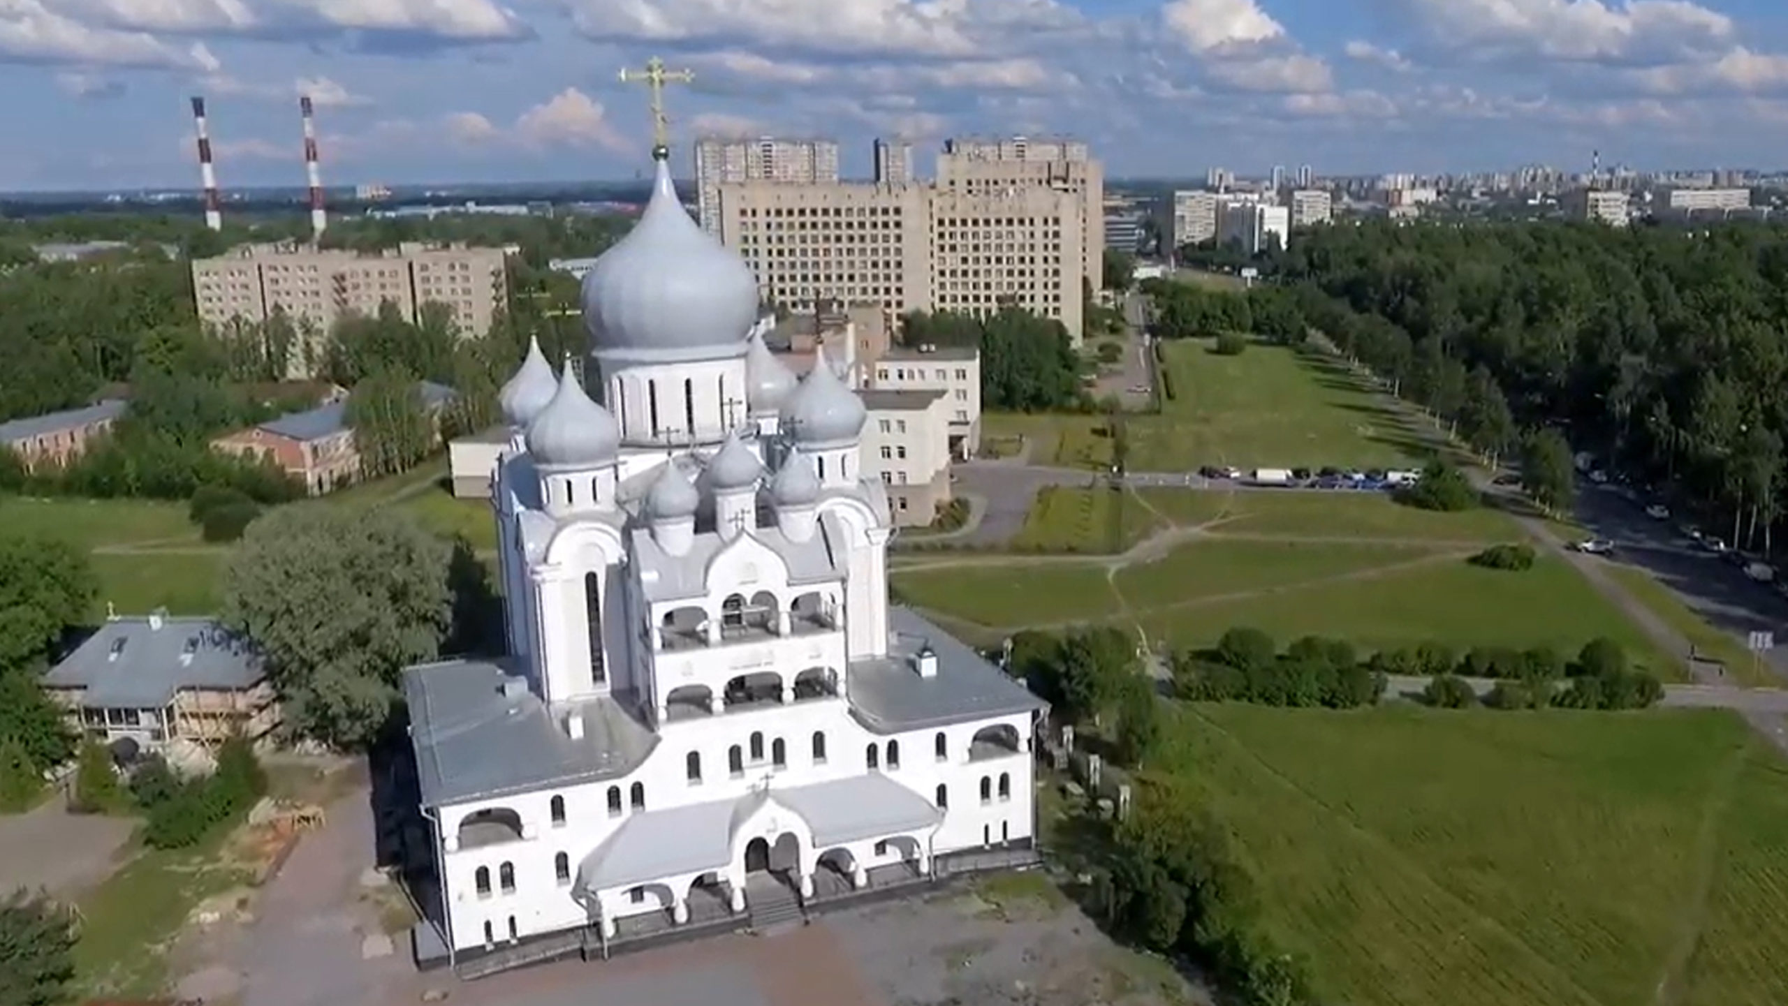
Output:
<path fill-rule="evenodd" d="M 1012 304 L 1062 322 L 1076 343 L 1084 216 L 1080 195 L 1050 186 L 721 186 L 721 239 L 751 264 L 765 300 L 871 302 L 894 314 Z"/>

